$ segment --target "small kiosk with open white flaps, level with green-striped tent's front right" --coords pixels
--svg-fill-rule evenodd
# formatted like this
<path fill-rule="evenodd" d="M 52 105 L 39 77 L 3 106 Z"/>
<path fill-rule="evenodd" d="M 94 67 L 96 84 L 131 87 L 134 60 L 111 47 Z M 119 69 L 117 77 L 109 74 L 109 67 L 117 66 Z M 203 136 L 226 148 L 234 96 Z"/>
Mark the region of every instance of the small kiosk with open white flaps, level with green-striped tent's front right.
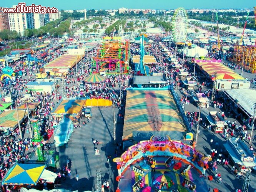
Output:
<path fill-rule="evenodd" d="M 214 133 L 223 133 L 223 128 L 228 125 L 218 111 L 209 111 L 206 119 L 214 127 Z"/>

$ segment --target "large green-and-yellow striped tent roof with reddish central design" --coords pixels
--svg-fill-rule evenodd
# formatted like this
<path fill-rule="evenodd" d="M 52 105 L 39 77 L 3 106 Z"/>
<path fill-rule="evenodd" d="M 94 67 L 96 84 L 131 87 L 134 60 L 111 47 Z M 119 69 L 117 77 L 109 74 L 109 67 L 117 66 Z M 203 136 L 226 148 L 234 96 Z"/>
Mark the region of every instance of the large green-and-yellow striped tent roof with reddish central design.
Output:
<path fill-rule="evenodd" d="M 168 90 L 127 90 L 123 140 L 184 139 L 186 127 Z"/>

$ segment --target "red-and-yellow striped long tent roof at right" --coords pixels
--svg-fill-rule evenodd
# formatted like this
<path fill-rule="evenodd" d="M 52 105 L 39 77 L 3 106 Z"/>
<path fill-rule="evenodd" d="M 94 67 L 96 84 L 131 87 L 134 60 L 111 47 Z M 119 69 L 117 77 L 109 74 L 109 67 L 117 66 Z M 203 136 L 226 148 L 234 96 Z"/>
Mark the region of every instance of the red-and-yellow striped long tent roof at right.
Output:
<path fill-rule="evenodd" d="M 218 62 L 197 62 L 199 66 L 203 68 L 206 73 L 213 76 L 213 80 L 215 79 L 214 73 L 216 72 L 216 79 L 239 79 L 244 80 L 244 78 L 235 73 L 233 70 Z"/>

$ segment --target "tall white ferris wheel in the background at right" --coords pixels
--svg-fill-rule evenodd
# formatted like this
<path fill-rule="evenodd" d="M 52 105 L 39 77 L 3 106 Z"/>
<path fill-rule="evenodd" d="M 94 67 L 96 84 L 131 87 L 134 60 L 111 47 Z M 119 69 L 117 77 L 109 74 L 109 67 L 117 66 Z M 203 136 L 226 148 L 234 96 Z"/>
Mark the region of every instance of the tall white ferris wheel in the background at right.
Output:
<path fill-rule="evenodd" d="M 173 15 L 172 31 L 175 42 L 186 41 L 188 29 L 188 15 L 184 8 L 177 8 Z"/>

